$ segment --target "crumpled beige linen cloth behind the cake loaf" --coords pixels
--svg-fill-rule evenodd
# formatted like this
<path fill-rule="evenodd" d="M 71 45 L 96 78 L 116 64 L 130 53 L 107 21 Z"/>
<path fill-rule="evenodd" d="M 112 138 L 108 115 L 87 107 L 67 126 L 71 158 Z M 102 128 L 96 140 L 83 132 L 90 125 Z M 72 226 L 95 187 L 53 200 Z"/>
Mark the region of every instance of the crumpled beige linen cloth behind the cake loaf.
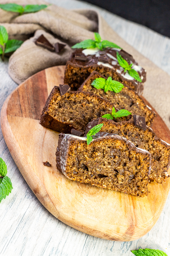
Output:
<path fill-rule="evenodd" d="M 1 3 L 10 2 L 12 1 L 1 0 Z M 13 2 L 20 5 L 49 5 L 41 0 Z M 71 55 L 73 44 L 85 39 L 94 39 L 94 31 L 99 32 L 103 40 L 118 44 L 146 69 L 147 80 L 143 95 L 170 128 L 170 76 L 118 36 L 97 11 L 89 9 L 69 11 L 50 5 L 37 13 L 18 15 L 0 9 L 0 25 L 6 27 L 10 38 L 23 40 L 29 38 L 9 59 L 8 73 L 18 84 L 42 69 L 64 65 Z M 41 34 L 44 34 L 52 44 L 66 43 L 64 51 L 54 53 L 35 45 L 35 40 Z"/>

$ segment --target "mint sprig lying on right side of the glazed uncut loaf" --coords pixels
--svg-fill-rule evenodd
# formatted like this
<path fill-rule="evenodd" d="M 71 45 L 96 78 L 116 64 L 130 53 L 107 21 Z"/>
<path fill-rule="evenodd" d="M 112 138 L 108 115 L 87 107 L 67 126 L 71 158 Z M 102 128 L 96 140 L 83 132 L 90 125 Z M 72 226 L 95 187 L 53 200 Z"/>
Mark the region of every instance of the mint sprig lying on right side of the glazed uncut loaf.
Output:
<path fill-rule="evenodd" d="M 139 74 L 137 73 L 137 71 L 135 69 L 132 69 L 131 66 L 133 64 L 128 64 L 128 62 L 122 58 L 122 56 L 118 53 L 118 51 L 116 52 L 116 56 L 117 56 L 117 60 L 119 65 L 124 68 L 124 72 L 128 71 L 129 75 L 131 77 L 133 77 L 135 80 L 142 82 L 141 78 L 139 77 Z"/>

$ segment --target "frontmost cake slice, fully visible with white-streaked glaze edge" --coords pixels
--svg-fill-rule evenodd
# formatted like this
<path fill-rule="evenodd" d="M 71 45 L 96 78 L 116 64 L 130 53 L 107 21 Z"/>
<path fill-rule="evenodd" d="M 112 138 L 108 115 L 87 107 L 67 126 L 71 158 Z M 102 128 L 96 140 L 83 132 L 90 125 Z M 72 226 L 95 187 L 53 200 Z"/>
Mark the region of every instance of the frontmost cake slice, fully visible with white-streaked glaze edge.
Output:
<path fill-rule="evenodd" d="M 144 197 L 148 195 L 150 153 L 118 135 L 86 137 L 61 133 L 56 165 L 67 178 Z"/>

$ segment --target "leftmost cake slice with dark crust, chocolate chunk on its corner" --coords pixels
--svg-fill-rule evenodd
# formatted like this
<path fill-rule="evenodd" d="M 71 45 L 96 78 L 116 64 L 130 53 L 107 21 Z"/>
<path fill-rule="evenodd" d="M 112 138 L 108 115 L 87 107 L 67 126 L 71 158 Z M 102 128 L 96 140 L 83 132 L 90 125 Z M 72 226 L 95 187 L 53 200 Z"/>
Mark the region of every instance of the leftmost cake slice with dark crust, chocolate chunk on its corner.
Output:
<path fill-rule="evenodd" d="M 112 107 L 108 101 L 89 92 L 67 91 L 61 95 L 59 87 L 54 86 L 43 108 L 40 123 L 58 132 L 71 133 L 71 129 L 84 132 L 90 121 L 111 114 Z"/>

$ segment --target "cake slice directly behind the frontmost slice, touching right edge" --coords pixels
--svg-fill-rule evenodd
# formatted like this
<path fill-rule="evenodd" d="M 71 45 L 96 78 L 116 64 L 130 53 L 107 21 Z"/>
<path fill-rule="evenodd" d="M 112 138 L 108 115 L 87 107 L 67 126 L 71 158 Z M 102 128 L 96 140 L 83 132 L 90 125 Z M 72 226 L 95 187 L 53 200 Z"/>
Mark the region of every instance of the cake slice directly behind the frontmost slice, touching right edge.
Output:
<path fill-rule="evenodd" d="M 169 177 L 170 144 L 158 138 L 150 127 L 147 127 L 146 131 L 144 131 L 136 127 L 133 121 L 116 123 L 106 118 L 98 118 L 87 125 L 85 134 L 100 123 L 103 123 L 102 132 L 116 133 L 134 143 L 135 146 L 149 151 L 152 156 L 149 181 L 158 183 L 166 181 Z"/>

